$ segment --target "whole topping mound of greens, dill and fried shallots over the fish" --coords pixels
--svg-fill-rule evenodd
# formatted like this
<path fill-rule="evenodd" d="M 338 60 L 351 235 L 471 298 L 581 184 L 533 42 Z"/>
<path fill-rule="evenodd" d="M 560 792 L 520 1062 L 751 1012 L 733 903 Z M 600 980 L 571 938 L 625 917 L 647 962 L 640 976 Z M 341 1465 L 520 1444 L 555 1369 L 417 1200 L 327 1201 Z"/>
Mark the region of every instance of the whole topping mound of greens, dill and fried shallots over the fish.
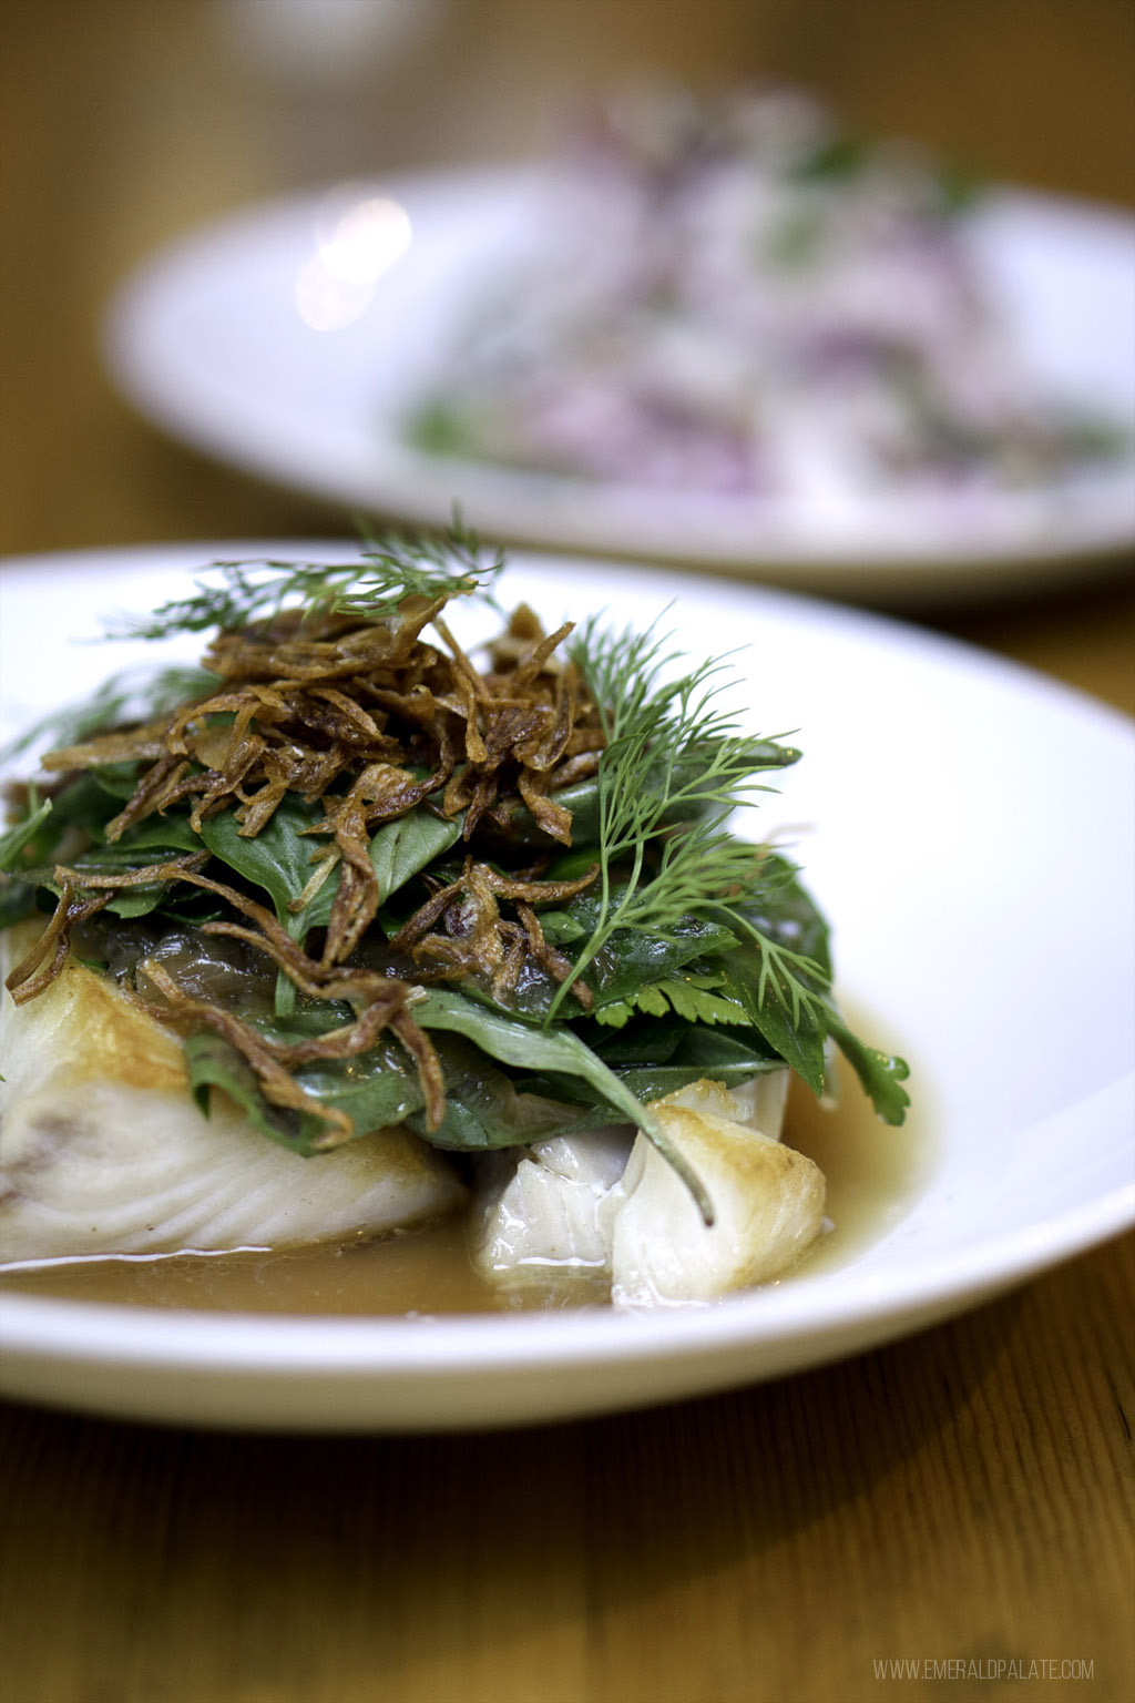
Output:
<path fill-rule="evenodd" d="M 44 918 L 14 998 L 77 954 L 184 1037 L 202 1109 L 223 1090 L 299 1153 L 400 1121 L 664 1146 L 652 1098 L 784 1063 L 818 1093 L 830 1044 L 902 1122 L 905 1064 L 839 1017 L 796 870 L 728 826 L 798 753 L 657 628 L 522 606 L 476 662 L 449 605 L 497 608 L 500 565 L 371 540 L 228 564 L 140 623 L 216 630 L 177 702 L 168 673 L 104 690 L 9 788 L 0 926 Z"/>

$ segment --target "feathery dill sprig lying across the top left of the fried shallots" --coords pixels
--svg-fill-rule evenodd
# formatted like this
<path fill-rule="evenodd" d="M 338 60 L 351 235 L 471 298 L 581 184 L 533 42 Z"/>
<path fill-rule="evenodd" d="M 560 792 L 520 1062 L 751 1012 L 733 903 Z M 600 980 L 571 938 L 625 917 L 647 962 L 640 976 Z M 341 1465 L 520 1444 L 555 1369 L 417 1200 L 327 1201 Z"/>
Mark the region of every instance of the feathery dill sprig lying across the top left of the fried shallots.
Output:
<path fill-rule="evenodd" d="M 213 562 L 216 582 L 199 579 L 187 598 L 162 603 L 145 616 L 123 616 L 107 623 L 109 639 L 168 639 L 182 632 L 235 632 L 254 622 L 271 620 L 293 605 L 305 622 L 325 615 L 349 615 L 359 622 L 381 622 L 398 611 L 408 596 L 483 596 L 492 603 L 492 584 L 504 567 L 504 555 L 485 557 L 480 538 L 459 514 L 437 535 L 407 536 L 362 531 L 361 560 L 279 562 L 250 559 Z"/>

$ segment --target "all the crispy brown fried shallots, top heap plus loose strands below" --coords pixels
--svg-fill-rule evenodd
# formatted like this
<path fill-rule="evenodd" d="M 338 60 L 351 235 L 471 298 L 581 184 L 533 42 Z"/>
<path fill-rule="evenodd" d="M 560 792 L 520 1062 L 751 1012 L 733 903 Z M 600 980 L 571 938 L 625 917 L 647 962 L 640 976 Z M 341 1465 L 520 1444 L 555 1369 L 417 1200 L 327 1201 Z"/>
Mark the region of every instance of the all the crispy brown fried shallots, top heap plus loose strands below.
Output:
<path fill-rule="evenodd" d="M 214 693 L 184 703 L 165 722 L 116 727 L 44 758 L 44 768 L 56 773 L 145 765 L 133 795 L 106 826 L 109 843 L 177 804 L 189 809 L 197 833 L 208 817 L 231 811 L 242 838 L 255 838 L 288 794 L 322 804 L 323 819 L 310 829 L 318 846 L 311 880 L 296 901 L 306 904 L 339 870 L 318 957 L 271 909 L 202 874 L 204 850 L 131 870 L 58 867 L 56 911 L 9 976 L 14 998 L 29 1000 L 51 983 L 75 926 L 116 892 L 189 884 L 240 918 L 204 921 L 204 933 L 252 945 L 303 996 L 349 1005 L 354 1020 L 284 1046 L 233 1012 L 191 996 L 160 962 L 143 959 L 138 972 L 158 995 L 146 1001 L 153 1015 L 185 1030 L 209 1029 L 233 1046 L 265 1100 L 327 1126 L 318 1146 L 347 1139 L 351 1121 L 308 1095 L 293 1071 L 317 1059 L 354 1058 L 386 1030 L 414 1058 L 427 1121 L 437 1127 L 444 1080 L 429 1035 L 414 1022 L 414 986 L 352 962 L 385 899 L 371 838 L 383 823 L 429 804 L 442 817 L 463 816 L 470 841 L 482 823 L 505 828 L 509 806 L 521 802 L 551 840 L 570 845 L 572 814 L 555 794 L 594 775 L 604 746 L 579 669 L 556 654 L 572 623 L 545 635 L 536 615 L 521 606 L 490 645 L 488 669 L 480 671 L 441 620 L 448 601 L 414 594 L 393 618 L 284 611 L 223 630 L 204 656 L 218 679 Z M 431 623 L 444 649 L 422 637 Z M 594 875 L 596 869 L 562 882 L 505 877 L 470 853 L 461 875 L 403 923 L 390 950 L 412 959 L 422 981 L 475 976 L 495 996 L 516 988 L 526 964 L 565 983 L 572 964 L 545 938 L 534 906 L 573 897 Z M 502 916 L 502 904 L 514 916 Z M 590 1008 L 582 981 L 572 993 Z"/>

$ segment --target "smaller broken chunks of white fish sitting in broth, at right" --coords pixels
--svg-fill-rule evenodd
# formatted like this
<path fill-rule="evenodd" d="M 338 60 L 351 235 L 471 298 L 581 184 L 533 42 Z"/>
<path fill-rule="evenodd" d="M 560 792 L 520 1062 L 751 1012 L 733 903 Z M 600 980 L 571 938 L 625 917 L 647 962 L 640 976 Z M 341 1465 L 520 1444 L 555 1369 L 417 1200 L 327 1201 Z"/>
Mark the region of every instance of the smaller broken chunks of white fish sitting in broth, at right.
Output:
<path fill-rule="evenodd" d="M 607 1272 L 616 1306 L 704 1301 L 796 1262 L 824 1223 L 824 1175 L 779 1141 L 788 1071 L 696 1081 L 650 1107 L 713 1206 L 633 1131 L 596 1129 L 493 1158 L 473 1255 L 495 1282 Z"/>

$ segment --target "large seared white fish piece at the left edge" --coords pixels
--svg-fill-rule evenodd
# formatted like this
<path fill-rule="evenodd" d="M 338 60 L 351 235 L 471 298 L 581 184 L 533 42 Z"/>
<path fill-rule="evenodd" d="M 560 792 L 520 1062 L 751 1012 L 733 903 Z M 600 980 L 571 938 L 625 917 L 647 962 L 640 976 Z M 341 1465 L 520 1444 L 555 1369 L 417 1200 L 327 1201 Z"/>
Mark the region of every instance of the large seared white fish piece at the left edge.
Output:
<path fill-rule="evenodd" d="M 202 1117 L 179 1042 L 73 959 L 0 1000 L 0 1264 L 345 1241 L 465 1199 L 400 1126 L 301 1158 L 218 1097 Z"/>

